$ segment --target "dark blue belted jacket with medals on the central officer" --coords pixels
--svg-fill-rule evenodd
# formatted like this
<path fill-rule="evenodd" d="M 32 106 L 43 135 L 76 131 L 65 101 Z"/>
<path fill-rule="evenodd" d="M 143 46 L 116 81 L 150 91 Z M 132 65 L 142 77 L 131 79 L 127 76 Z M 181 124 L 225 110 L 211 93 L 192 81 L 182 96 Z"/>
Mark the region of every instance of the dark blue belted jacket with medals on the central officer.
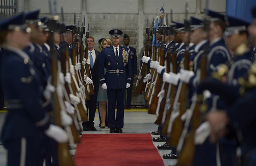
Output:
<path fill-rule="evenodd" d="M 128 53 L 128 48 L 119 46 L 119 56 L 116 58 L 113 46 L 103 48 L 100 54 L 100 84 L 107 84 L 107 88 L 120 89 L 125 88 L 126 83 L 131 84 L 131 55 L 128 53 L 128 62 L 123 62 L 122 48 Z M 109 73 L 106 70 L 125 70 L 123 73 Z"/>

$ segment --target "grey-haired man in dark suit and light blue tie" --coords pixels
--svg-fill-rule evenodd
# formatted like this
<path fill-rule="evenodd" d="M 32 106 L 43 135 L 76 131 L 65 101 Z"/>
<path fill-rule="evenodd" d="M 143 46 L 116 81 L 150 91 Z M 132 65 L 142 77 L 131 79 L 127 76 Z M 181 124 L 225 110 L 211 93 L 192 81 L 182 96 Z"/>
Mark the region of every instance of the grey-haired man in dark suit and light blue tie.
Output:
<path fill-rule="evenodd" d="M 97 107 L 97 96 L 99 91 L 100 84 L 100 76 L 99 76 L 99 61 L 100 61 L 100 52 L 94 49 L 94 38 L 87 38 L 88 45 L 88 55 L 89 58 L 86 60 L 86 63 L 90 65 L 91 73 L 92 73 L 92 81 L 94 86 L 94 94 L 90 94 L 90 100 L 86 101 L 86 107 L 88 108 L 89 121 L 83 122 L 83 131 L 96 131 L 97 129 L 94 127 L 94 118 Z"/>

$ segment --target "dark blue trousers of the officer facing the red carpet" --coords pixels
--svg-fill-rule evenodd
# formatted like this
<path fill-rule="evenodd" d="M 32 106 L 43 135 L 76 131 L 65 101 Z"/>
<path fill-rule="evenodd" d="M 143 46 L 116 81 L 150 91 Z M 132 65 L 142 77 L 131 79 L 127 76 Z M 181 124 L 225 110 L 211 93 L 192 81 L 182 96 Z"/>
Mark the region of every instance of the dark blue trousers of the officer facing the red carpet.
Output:
<path fill-rule="evenodd" d="M 125 88 L 107 89 L 108 95 L 108 126 L 109 128 L 123 128 L 125 108 Z M 115 105 L 117 101 L 117 118 L 115 118 Z"/>

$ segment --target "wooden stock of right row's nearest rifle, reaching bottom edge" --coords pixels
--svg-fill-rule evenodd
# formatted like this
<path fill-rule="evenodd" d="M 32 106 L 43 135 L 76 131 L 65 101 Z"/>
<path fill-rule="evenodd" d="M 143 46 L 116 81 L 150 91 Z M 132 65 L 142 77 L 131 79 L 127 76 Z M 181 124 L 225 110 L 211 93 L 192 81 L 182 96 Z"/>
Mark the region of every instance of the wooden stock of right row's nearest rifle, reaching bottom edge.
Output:
<path fill-rule="evenodd" d="M 207 55 L 204 54 L 201 57 L 200 62 L 200 80 L 203 80 L 203 78 L 206 77 L 207 72 Z M 191 120 L 191 130 L 186 135 L 186 138 L 184 140 L 184 145 L 181 149 L 181 153 L 178 157 L 178 165 L 179 166 L 192 166 L 192 161 L 194 159 L 195 155 L 195 131 L 200 125 L 200 105 L 202 104 L 203 96 L 202 94 L 199 94 L 197 96 L 197 101 L 195 105 L 195 109 L 192 113 L 192 120 Z"/>

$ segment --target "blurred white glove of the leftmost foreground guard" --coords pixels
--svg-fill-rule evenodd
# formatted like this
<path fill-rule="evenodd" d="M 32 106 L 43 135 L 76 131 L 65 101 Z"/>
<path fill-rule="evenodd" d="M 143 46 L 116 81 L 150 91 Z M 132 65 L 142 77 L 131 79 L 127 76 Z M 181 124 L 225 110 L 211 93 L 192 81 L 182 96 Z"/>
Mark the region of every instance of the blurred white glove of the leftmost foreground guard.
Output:
<path fill-rule="evenodd" d="M 66 131 L 53 124 L 50 124 L 49 129 L 45 131 L 45 134 L 59 143 L 64 143 L 68 140 Z"/>

